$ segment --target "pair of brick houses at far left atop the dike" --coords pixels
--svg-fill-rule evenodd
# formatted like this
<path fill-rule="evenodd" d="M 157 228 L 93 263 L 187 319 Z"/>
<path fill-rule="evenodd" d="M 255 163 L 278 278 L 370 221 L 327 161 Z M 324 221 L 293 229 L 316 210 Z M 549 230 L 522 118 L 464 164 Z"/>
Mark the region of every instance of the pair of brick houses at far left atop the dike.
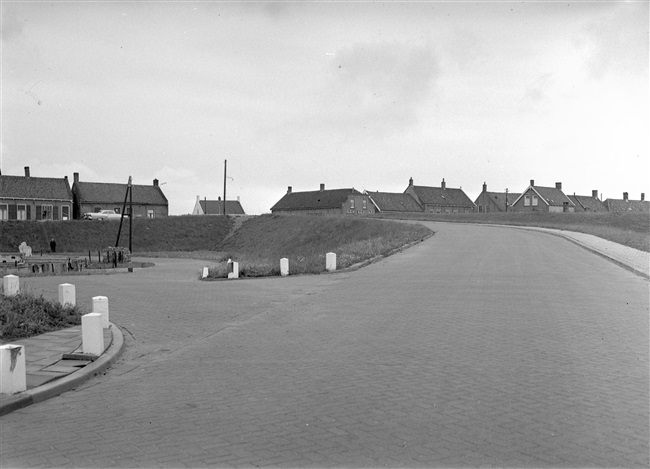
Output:
<path fill-rule="evenodd" d="M 169 203 L 158 180 L 153 185 L 132 186 L 133 215 L 157 218 L 169 215 Z M 0 220 L 72 220 L 86 212 L 113 210 L 121 213 L 127 184 L 81 182 L 68 177 L 32 177 L 29 166 L 24 176 L 0 175 Z M 127 203 L 126 214 L 130 205 Z"/>

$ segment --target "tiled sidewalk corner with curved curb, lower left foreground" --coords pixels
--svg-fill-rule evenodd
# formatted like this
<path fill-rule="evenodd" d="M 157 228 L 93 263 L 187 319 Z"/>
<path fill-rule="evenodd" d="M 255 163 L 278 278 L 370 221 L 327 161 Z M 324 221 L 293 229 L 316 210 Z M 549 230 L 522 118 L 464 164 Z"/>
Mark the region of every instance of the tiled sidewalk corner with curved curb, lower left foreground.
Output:
<path fill-rule="evenodd" d="M 0 416 L 74 389 L 105 371 L 124 349 L 124 337 L 114 324 L 104 329 L 104 353 L 94 361 L 73 356 L 82 351 L 81 326 L 11 343 L 25 346 L 27 390 L 13 395 L 0 394 Z"/>

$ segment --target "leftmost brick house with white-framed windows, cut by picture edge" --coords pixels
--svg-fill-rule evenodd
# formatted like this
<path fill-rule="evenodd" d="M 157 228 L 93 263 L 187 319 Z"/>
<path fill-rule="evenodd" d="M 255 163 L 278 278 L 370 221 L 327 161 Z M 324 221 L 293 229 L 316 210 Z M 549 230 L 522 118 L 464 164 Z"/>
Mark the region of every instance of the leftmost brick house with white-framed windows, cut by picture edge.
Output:
<path fill-rule="evenodd" d="M 67 176 L 34 177 L 29 166 L 24 176 L 0 174 L 0 221 L 71 220 L 72 203 Z"/>

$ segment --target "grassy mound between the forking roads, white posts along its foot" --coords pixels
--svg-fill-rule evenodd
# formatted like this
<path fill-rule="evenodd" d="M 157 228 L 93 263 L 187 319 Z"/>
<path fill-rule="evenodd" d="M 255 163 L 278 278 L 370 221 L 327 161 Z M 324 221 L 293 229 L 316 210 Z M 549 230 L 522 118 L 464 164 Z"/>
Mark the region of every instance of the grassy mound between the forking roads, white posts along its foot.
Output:
<path fill-rule="evenodd" d="M 384 256 L 431 235 L 419 224 L 350 217 L 262 215 L 243 222 L 221 245 L 221 264 L 210 278 L 227 276 L 226 261 L 239 262 L 241 277 L 280 275 L 280 259 L 289 259 L 289 273 L 325 271 L 325 255 L 334 252 L 337 268 Z"/>

